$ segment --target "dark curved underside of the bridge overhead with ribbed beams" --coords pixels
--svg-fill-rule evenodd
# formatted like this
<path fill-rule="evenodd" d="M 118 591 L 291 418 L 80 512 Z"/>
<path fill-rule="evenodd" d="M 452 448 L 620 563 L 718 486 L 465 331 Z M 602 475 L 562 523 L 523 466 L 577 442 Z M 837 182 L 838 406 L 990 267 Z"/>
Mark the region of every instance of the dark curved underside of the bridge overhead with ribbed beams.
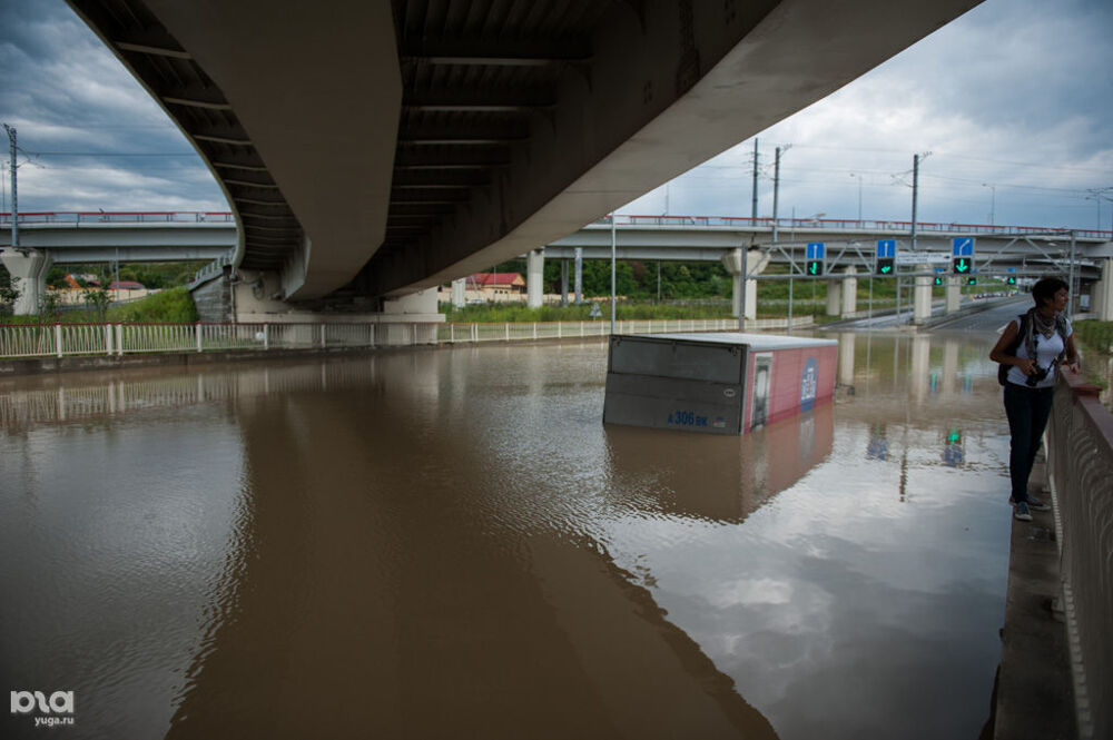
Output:
<path fill-rule="evenodd" d="M 242 275 L 309 305 L 559 239 L 977 4 L 69 2 L 225 189 Z"/>

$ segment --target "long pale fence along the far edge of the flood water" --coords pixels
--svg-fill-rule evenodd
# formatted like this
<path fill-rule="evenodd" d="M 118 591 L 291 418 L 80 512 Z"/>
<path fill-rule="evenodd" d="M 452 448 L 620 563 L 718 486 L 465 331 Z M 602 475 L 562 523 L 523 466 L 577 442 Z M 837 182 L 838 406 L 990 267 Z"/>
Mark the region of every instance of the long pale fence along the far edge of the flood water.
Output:
<path fill-rule="evenodd" d="M 794 327 L 811 324 L 792 319 Z M 747 329 L 786 328 L 786 319 L 746 322 Z M 640 319 L 615 323 L 619 334 L 731 332 L 733 318 Z M 418 344 L 572 339 L 610 334 L 610 322 L 528 324 L 6 324 L 0 357 L 132 355 L 144 353 L 329 349 Z"/>

